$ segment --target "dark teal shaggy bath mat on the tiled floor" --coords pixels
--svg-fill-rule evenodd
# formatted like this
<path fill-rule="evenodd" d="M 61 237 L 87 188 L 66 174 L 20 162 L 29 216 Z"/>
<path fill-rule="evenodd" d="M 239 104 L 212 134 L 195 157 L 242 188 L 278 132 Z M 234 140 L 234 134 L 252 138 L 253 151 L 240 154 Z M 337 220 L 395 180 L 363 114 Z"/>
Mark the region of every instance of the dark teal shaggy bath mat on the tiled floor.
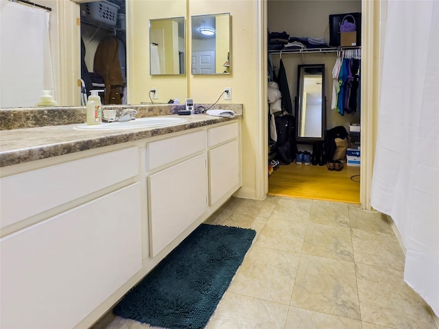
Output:
<path fill-rule="evenodd" d="M 204 328 L 256 232 L 201 224 L 115 306 L 150 326 Z"/>

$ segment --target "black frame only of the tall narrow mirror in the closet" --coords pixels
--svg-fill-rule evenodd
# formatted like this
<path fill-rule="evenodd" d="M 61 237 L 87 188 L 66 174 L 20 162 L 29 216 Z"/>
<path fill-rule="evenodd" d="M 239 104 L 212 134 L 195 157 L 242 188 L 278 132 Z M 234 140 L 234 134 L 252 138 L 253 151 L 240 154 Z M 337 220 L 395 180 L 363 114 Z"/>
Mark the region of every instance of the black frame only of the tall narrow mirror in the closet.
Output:
<path fill-rule="evenodd" d="M 303 72 L 305 69 L 320 69 L 322 72 L 322 108 L 321 108 L 321 134 L 320 137 L 304 137 L 300 136 L 300 125 L 301 125 L 301 108 L 303 103 Z M 326 97 L 324 95 L 324 64 L 301 64 L 297 66 L 297 97 L 296 97 L 296 141 L 302 143 L 315 143 L 319 141 L 324 141 L 324 135 L 326 132 Z"/>

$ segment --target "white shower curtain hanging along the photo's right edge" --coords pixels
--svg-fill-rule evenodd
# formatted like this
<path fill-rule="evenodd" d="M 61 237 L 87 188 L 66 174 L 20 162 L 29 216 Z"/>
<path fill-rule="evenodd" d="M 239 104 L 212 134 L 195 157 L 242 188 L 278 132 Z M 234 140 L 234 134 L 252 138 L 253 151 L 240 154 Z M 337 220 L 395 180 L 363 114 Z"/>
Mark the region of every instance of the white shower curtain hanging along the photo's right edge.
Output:
<path fill-rule="evenodd" d="M 439 1 L 388 1 L 371 204 L 406 248 L 404 279 L 439 316 Z"/>

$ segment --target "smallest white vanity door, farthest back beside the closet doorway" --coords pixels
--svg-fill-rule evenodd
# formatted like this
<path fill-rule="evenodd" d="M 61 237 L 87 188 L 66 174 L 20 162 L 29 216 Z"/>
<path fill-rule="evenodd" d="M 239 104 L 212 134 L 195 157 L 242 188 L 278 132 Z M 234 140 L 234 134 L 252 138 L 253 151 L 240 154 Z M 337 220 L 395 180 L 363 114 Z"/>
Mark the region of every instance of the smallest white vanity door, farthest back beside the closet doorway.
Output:
<path fill-rule="evenodd" d="M 233 188 L 239 187 L 239 147 L 237 140 L 209 151 L 209 178 L 210 206 L 224 197 L 226 193 L 230 193 Z"/>

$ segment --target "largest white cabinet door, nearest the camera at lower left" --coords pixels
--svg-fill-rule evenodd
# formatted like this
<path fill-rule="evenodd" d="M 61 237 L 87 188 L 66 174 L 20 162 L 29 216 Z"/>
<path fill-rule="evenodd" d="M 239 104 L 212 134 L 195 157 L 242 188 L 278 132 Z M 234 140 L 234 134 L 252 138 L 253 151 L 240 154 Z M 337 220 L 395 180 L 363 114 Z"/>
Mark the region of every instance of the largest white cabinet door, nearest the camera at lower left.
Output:
<path fill-rule="evenodd" d="M 73 328 L 142 267 L 140 183 L 0 239 L 1 328 Z"/>

